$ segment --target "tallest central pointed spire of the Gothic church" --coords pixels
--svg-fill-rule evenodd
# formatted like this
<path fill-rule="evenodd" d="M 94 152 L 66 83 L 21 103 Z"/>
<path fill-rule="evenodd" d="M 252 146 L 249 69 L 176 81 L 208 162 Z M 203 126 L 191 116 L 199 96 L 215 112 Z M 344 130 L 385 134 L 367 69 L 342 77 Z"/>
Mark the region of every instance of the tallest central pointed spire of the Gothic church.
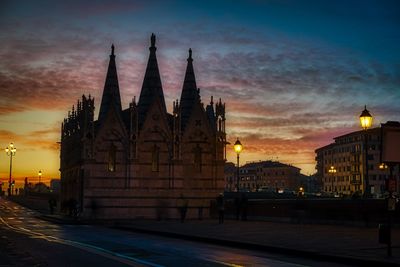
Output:
<path fill-rule="evenodd" d="M 158 70 L 158 63 L 156 57 L 156 36 L 154 33 L 150 38 L 150 55 L 147 62 L 146 73 L 144 75 L 142 90 L 140 91 L 140 97 L 138 102 L 139 112 L 139 128 L 144 123 L 146 114 L 150 106 L 155 102 L 159 101 L 162 110 L 166 113 L 167 108 L 165 106 L 164 93 L 161 84 L 160 71 Z"/>

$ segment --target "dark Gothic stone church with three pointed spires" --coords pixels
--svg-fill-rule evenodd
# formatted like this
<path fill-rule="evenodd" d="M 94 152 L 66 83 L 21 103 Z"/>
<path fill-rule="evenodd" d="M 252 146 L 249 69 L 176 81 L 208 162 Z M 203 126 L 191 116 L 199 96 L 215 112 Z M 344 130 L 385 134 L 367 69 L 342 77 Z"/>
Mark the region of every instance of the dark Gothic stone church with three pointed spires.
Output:
<path fill-rule="evenodd" d="M 122 109 L 114 46 L 97 120 L 94 99 L 83 95 L 61 127 L 61 202 L 75 202 L 88 219 L 209 216 L 223 192 L 225 104 L 204 107 L 189 50 L 180 100 L 167 112 L 151 36 L 140 92 Z"/>

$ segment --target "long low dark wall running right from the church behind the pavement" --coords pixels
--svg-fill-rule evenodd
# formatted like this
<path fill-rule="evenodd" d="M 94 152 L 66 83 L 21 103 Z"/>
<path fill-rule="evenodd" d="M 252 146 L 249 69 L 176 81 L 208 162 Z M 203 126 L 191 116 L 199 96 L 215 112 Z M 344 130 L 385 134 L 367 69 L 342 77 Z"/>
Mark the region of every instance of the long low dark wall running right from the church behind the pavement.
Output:
<path fill-rule="evenodd" d="M 227 218 L 236 217 L 234 198 L 226 199 Z M 246 205 L 249 220 L 272 220 L 304 223 L 377 224 L 387 221 L 384 199 L 249 199 Z M 242 206 L 243 210 L 243 206 Z M 217 216 L 215 201 L 211 214 Z M 400 223 L 400 205 L 392 213 Z"/>

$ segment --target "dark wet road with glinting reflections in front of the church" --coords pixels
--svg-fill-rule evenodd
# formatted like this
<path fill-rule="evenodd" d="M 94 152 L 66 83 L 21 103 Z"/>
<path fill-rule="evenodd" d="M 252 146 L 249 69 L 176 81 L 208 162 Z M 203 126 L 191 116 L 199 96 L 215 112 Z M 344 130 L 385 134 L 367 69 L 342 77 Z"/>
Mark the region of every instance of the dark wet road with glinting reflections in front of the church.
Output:
<path fill-rule="evenodd" d="M 344 266 L 38 216 L 0 200 L 1 266 Z"/>

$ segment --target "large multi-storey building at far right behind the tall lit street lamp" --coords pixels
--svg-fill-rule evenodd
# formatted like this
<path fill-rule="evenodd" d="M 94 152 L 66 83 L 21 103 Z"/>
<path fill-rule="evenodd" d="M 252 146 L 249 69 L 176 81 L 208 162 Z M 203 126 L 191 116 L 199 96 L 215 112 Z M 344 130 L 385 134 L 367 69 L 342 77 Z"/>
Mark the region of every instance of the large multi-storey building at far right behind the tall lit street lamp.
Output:
<path fill-rule="evenodd" d="M 322 191 L 336 195 L 363 194 L 365 191 L 364 131 L 356 131 L 334 138 L 335 142 L 318 148 L 316 169 Z M 385 192 L 389 169 L 379 168 L 381 149 L 380 127 L 367 130 L 368 180 L 371 194 L 380 197 Z M 329 171 L 334 170 L 334 171 Z M 398 167 L 394 174 L 398 175 Z"/>

